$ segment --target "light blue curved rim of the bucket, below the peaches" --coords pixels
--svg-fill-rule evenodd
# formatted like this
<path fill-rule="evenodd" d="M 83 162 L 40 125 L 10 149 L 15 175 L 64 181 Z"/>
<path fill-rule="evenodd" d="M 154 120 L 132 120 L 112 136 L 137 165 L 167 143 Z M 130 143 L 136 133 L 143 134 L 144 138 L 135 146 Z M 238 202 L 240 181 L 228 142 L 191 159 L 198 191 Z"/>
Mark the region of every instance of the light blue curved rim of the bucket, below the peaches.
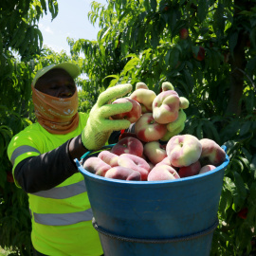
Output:
<path fill-rule="evenodd" d="M 225 150 L 225 152 L 227 151 L 227 148 L 225 145 L 223 145 L 222 148 Z M 84 178 L 90 177 L 91 179 L 97 179 L 102 182 L 109 182 L 109 183 L 113 183 L 113 184 L 115 183 L 115 184 L 133 184 L 133 185 L 139 185 L 139 184 L 156 185 L 156 184 L 171 184 L 171 183 L 174 184 L 174 183 L 180 183 L 183 181 L 185 182 L 185 181 L 192 181 L 192 180 L 208 178 L 208 176 L 210 176 L 212 174 L 216 174 L 222 170 L 225 170 L 228 167 L 229 155 L 226 154 L 225 161 L 221 165 L 217 166 L 215 169 L 213 169 L 207 173 L 196 174 L 193 176 L 182 177 L 182 178 L 172 179 L 172 180 L 155 180 L 155 181 L 133 181 L 133 180 L 121 180 L 121 179 L 102 177 L 97 174 L 92 174 L 89 171 L 87 171 L 86 169 L 84 169 L 82 167 L 81 161 L 79 161 L 77 158 L 74 161 L 76 163 L 76 166 L 77 166 L 79 172 L 84 176 Z"/>

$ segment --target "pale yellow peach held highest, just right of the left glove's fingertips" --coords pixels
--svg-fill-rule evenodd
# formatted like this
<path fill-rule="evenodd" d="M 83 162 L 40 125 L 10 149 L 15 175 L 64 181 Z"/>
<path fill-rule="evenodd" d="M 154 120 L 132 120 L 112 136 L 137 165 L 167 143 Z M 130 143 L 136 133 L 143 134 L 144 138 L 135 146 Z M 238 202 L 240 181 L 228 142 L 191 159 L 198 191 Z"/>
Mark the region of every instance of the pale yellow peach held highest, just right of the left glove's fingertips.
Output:
<path fill-rule="evenodd" d="M 141 105 L 141 113 L 152 112 L 152 103 L 155 99 L 155 92 L 152 90 L 137 89 L 131 95 L 130 99 L 137 101 Z"/>

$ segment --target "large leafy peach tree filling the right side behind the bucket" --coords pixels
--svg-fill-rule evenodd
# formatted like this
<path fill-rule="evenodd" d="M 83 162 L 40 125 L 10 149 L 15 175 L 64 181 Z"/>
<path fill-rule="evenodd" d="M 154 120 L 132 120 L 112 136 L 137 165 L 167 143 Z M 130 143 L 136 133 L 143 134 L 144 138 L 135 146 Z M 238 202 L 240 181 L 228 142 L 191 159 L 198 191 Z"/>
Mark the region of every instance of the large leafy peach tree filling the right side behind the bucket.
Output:
<path fill-rule="evenodd" d="M 224 177 L 211 255 L 253 251 L 256 226 L 256 1 L 145 0 L 92 3 L 97 41 L 69 45 L 83 53 L 93 104 L 101 90 L 145 82 L 159 92 L 169 81 L 190 101 L 183 133 L 225 144 Z M 91 96 L 91 97 L 90 97 Z"/>

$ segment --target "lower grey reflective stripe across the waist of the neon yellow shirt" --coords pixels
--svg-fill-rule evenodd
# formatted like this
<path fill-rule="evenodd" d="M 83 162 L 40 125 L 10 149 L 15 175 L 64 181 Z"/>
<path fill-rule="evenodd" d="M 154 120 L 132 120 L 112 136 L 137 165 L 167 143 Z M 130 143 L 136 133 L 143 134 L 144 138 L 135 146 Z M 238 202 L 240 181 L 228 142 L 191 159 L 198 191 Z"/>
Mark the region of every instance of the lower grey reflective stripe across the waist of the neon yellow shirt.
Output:
<path fill-rule="evenodd" d="M 48 226 L 72 225 L 82 221 L 91 221 L 92 209 L 71 213 L 33 213 L 34 221 Z"/>

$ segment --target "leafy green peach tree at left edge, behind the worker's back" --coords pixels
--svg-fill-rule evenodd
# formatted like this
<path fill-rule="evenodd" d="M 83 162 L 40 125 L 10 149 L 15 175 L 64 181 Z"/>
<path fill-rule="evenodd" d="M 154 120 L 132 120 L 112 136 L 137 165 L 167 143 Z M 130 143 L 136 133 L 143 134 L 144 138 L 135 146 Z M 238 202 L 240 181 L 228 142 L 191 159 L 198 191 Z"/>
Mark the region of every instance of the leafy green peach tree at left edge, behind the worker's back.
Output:
<path fill-rule="evenodd" d="M 13 183 L 7 147 L 11 137 L 34 120 L 30 101 L 34 68 L 54 58 L 44 59 L 50 52 L 42 51 L 43 36 L 37 26 L 48 10 L 55 18 L 57 2 L 48 0 L 46 6 L 45 0 L 3 0 L 0 4 L 0 247 L 11 248 L 11 255 L 32 251 L 27 194 Z"/>

